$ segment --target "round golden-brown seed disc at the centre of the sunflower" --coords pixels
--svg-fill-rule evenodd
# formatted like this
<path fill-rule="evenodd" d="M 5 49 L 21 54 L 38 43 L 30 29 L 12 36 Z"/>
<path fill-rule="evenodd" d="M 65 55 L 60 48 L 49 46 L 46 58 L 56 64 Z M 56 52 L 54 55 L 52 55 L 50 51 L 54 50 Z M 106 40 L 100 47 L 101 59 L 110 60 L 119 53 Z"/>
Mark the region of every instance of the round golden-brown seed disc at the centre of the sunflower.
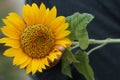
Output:
<path fill-rule="evenodd" d="M 54 48 L 54 35 L 44 25 L 32 25 L 26 27 L 21 35 L 21 48 L 32 58 L 43 58 Z"/>

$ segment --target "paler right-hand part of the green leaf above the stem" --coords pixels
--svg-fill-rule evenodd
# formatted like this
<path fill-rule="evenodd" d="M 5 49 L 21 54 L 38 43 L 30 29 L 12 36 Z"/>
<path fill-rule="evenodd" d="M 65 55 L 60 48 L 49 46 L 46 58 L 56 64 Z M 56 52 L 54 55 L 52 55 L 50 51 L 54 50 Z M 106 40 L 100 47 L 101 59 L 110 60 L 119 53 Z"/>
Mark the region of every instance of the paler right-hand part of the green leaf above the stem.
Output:
<path fill-rule="evenodd" d="M 89 37 L 86 29 L 87 24 L 93 19 L 93 16 L 87 13 L 78 14 L 78 27 L 76 28 L 75 35 L 79 41 L 81 49 L 86 49 L 89 45 Z"/>

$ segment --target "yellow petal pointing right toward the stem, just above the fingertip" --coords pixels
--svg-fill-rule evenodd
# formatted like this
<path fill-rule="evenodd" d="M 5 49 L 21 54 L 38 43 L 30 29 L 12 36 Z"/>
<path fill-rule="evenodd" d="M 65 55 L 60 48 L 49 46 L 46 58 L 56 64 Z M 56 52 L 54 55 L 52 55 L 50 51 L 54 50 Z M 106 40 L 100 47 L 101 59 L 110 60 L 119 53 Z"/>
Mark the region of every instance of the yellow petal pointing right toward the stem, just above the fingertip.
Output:
<path fill-rule="evenodd" d="M 56 40 L 55 44 L 66 48 L 70 46 L 72 42 L 68 38 L 63 38 L 63 39 Z"/>

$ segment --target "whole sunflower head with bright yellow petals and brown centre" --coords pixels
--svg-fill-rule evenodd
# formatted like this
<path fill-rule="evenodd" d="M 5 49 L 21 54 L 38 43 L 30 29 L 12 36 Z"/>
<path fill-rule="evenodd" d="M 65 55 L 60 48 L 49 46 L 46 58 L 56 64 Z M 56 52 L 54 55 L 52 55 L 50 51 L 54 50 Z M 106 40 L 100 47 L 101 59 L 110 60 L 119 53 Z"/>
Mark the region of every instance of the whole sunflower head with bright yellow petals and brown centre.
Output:
<path fill-rule="evenodd" d="M 26 68 L 26 73 L 42 72 L 54 62 L 62 52 L 58 46 L 69 47 L 72 42 L 67 38 L 66 30 L 69 24 L 64 16 L 56 16 L 57 10 L 41 3 L 23 7 L 23 18 L 12 12 L 3 19 L 5 26 L 1 28 L 5 37 L 0 43 L 9 48 L 4 52 L 7 57 L 13 57 L 13 64 Z"/>

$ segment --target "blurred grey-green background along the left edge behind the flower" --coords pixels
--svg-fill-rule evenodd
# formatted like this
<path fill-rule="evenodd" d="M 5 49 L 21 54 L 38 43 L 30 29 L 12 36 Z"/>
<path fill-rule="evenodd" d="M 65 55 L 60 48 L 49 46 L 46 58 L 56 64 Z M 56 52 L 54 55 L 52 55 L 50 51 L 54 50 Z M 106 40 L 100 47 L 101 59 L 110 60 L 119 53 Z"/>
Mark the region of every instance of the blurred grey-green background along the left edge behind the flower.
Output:
<path fill-rule="evenodd" d="M 8 16 L 9 12 L 16 12 L 22 15 L 22 7 L 25 0 L 0 0 L 0 27 L 4 24 L 2 19 Z M 3 35 L 0 31 L 0 37 Z M 24 69 L 19 69 L 18 66 L 12 65 L 12 58 L 3 56 L 6 47 L 0 44 L 0 80 L 31 80 L 25 74 Z"/>

